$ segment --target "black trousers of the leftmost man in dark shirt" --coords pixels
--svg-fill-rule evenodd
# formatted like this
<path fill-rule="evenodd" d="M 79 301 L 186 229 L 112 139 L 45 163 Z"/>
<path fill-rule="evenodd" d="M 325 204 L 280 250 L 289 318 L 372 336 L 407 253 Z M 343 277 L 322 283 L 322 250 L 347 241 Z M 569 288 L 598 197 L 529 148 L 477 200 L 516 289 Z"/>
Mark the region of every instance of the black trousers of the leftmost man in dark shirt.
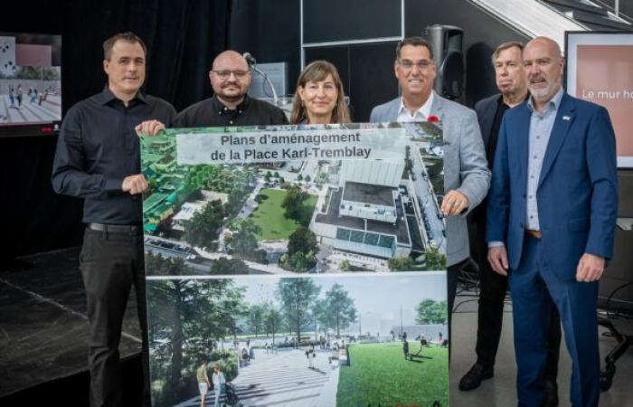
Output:
<path fill-rule="evenodd" d="M 80 254 L 80 270 L 86 288 L 90 338 L 90 405 L 122 405 L 118 360 L 121 324 L 134 285 L 138 319 L 143 334 L 145 397 L 148 396 L 145 262 L 143 235 L 86 230 Z M 146 402 L 146 401 L 145 401 Z"/>

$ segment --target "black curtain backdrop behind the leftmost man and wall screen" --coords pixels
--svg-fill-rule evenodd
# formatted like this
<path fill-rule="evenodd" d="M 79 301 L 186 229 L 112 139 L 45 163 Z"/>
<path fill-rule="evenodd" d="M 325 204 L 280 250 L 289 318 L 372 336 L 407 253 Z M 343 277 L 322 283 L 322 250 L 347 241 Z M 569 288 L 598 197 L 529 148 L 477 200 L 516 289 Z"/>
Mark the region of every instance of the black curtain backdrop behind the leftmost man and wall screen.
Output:
<path fill-rule="evenodd" d="M 183 109 L 211 95 L 207 72 L 229 45 L 231 0 L 21 0 L 0 14 L 0 31 L 62 35 L 64 112 L 99 92 L 101 43 L 132 31 L 147 45 L 147 93 Z M 53 194 L 56 137 L 0 139 L 0 265 L 15 256 L 80 244 L 80 200 Z"/>

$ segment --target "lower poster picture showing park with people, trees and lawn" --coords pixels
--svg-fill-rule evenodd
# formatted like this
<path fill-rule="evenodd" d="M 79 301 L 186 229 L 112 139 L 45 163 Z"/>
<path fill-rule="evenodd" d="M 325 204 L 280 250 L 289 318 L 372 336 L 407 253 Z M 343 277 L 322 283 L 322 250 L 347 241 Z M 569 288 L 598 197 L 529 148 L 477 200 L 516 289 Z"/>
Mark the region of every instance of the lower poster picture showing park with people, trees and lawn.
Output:
<path fill-rule="evenodd" d="M 220 405 L 449 405 L 444 272 L 150 276 L 147 298 L 153 405 L 199 406 L 202 360 Z"/>

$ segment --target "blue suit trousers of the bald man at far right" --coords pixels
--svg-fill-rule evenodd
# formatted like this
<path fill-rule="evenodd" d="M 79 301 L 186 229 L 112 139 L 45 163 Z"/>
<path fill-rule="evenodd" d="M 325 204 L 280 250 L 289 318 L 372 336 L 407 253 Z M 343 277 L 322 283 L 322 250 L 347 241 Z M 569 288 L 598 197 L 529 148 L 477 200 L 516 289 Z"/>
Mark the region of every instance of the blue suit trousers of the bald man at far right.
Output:
<path fill-rule="evenodd" d="M 515 326 L 516 389 L 520 407 L 543 402 L 551 308 L 558 308 L 572 356 L 572 405 L 596 407 L 600 398 L 598 282 L 578 282 L 553 274 L 541 241 L 524 238 L 521 261 L 510 273 Z"/>

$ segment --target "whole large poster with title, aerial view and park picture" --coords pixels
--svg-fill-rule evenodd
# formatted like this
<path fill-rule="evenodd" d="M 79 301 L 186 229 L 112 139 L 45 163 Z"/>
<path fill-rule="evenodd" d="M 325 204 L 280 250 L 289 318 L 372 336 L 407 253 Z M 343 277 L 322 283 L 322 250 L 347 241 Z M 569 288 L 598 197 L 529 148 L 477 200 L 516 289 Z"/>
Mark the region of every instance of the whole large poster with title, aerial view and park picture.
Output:
<path fill-rule="evenodd" d="M 143 138 L 153 404 L 200 405 L 217 364 L 208 405 L 448 405 L 444 147 L 437 123 Z"/>

